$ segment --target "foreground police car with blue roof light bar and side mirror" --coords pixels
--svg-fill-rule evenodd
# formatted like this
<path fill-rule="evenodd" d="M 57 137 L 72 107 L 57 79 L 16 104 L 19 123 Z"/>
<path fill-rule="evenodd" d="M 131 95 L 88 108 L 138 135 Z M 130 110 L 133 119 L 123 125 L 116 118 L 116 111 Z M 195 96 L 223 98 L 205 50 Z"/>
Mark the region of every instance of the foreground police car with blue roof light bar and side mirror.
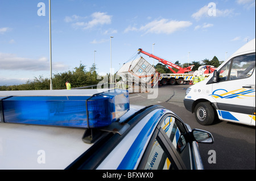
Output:
<path fill-rule="evenodd" d="M 0 169 L 204 169 L 212 144 L 162 106 L 126 90 L 0 91 Z"/>

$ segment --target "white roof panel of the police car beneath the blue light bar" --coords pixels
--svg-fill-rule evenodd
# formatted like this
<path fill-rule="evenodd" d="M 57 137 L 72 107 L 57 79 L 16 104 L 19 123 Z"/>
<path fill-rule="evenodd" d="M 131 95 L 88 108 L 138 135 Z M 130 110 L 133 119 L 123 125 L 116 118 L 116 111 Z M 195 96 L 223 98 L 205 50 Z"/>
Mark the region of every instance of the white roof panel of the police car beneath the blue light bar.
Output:
<path fill-rule="evenodd" d="M 130 110 L 120 121 L 133 115 Z M 82 141 L 83 128 L 0 123 L 0 169 L 66 169 L 93 144 Z"/>

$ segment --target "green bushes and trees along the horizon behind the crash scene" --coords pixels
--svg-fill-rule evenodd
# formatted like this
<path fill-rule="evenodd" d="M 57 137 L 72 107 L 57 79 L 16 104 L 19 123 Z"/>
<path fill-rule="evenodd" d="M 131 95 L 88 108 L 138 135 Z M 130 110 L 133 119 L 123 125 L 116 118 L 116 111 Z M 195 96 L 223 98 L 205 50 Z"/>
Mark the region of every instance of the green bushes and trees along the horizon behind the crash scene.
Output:
<path fill-rule="evenodd" d="M 189 65 L 195 65 L 193 67 L 193 71 L 197 70 L 199 66 L 201 65 L 213 65 L 214 67 L 218 67 L 221 62 L 218 61 L 218 58 L 216 56 L 213 57 L 211 61 L 209 61 L 207 58 L 202 60 L 202 64 L 199 61 L 192 61 Z M 180 64 L 179 61 L 175 62 L 175 65 L 178 65 L 180 67 L 187 67 L 188 63 L 185 63 L 183 65 Z M 155 65 L 155 69 L 158 71 L 158 73 L 172 73 L 168 67 L 162 63 L 158 63 Z M 174 71 L 177 72 L 177 69 L 172 68 Z M 90 85 L 97 85 L 98 82 L 104 80 L 108 80 L 109 82 L 109 74 L 105 76 L 98 76 L 97 74 L 97 68 L 93 64 L 91 68 L 89 68 L 89 71 L 86 71 L 86 66 L 82 65 L 80 63 L 79 67 L 75 67 L 73 71 L 65 71 L 63 73 L 56 73 L 53 74 L 52 78 L 52 85 L 53 89 L 66 89 L 65 82 L 69 81 L 71 83 L 72 88 L 75 87 L 83 87 L 83 86 L 90 86 Z M 97 79 L 101 78 L 101 79 Z M 114 76 L 113 76 L 114 78 Z M 113 81 L 114 82 L 114 81 Z M 26 83 L 22 85 L 13 85 L 13 86 L 0 86 L 0 91 L 4 90 L 49 90 L 50 87 L 50 80 L 49 78 L 43 78 L 42 75 L 40 75 L 38 78 L 35 77 L 32 81 L 28 80 Z"/>

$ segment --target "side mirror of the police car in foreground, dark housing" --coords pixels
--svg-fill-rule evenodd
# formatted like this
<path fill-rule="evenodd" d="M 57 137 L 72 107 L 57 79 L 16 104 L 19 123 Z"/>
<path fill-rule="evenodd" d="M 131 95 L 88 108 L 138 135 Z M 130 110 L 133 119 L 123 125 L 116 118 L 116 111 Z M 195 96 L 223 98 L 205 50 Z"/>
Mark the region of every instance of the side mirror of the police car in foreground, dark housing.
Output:
<path fill-rule="evenodd" d="M 193 129 L 192 135 L 195 138 L 196 142 L 213 144 L 213 136 L 212 133 L 201 130 L 201 129 Z"/>

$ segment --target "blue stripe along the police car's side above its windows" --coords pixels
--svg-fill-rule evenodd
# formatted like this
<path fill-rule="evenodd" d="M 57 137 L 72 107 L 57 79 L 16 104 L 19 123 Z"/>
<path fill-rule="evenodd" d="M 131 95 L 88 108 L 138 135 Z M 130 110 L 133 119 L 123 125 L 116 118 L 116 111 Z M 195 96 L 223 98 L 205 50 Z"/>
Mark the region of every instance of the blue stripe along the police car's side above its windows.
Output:
<path fill-rule="evenodd" d="M 151 133 L 155 130 L 156 125 L 159 123 L 160 118 L 163 116 L 165 110 L 157 111 L 150 120 L 147 121 L 146 125 L 143 127 L 142 131 L 138 134 L 137 138 L 131 145 L 130 149 L 127 151 L 122 162 L 118 166 L 118 170 L 133 170 L 139 156 L 142 153 L 144 145 L 146 144 Z"/>

